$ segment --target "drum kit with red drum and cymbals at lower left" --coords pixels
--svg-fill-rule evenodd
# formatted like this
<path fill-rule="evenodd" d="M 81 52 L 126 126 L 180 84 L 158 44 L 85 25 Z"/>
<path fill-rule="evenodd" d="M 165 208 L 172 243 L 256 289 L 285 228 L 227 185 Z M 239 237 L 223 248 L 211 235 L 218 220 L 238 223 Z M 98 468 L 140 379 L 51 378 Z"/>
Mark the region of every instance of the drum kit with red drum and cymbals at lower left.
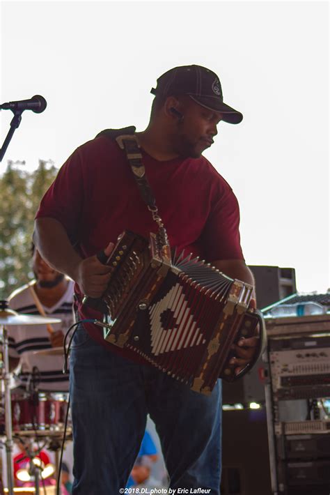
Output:
<path fill-rule="evenodd" d="M 0 470 L 0 495 L 17 492 L 14 487 L 13 476 L 13 444 L 14 441 L 23 443 L 26 452 L 31 452 L 33 457 L 33 443 L 40 443 L 55 452 L 56 471 L 59 466 L 59 452 L 65 436 L 65 419 L 68 413 L 68 394 L 65 393 L 40 393 L 33 384 L 29 390 L 17 393 L 10 390 L 10 367 L 8 353 L 8 327 L 25 325 L 47 325 L 59 323 L 61 320 L 50 317 L 18 314 L 8 308 L 6 300 L 0 300 L 0 379 L 1 379 L 1 404 L 0 404 L 0 442 L 6 450 L 6 473 L 8 489 L 3 489 L 2 469 Z M 63 348 L 42 349 L 35 351 L 40 356 L 63 355 Z M 33 381 L 32 381 L 33 382 Z M 70 436 L 70 427 L 68 428 Z M 30 457 L 30 456 L 29 456 Z M 33 464 L 33 463 L 31 463 Z M 2 468 L 2 466 L 0 466 Z M 31 477 L 35 482 L 33 493 L 40 493 L 40 469 L 33 469 Z M 20 489 L 22 490 L 22 489 Z"/>

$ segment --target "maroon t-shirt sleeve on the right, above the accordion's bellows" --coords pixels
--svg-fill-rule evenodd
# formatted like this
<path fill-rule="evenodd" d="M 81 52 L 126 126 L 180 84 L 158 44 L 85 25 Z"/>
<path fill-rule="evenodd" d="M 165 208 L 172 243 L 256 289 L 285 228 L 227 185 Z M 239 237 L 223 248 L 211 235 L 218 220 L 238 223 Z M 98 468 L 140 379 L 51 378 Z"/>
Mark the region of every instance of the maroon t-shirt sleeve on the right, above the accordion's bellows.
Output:
<path fill-rule="evenodd" d="M 213 200 L 210 214 L 202 233 L 207 261 L 243 259 L 239 235 L 239 205 L 237 198 L 225 183 Z"/>

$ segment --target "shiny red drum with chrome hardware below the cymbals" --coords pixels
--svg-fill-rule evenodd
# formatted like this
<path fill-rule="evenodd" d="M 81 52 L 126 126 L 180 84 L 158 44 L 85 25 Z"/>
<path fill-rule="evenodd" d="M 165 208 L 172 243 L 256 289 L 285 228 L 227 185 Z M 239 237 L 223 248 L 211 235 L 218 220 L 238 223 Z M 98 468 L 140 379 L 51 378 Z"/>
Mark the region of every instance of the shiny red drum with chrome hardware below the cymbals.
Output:
<path fill-rule="evenodd" d="M 13 394 L 11 399 L 13 432 L 64 429 L 68 393 Z"/>

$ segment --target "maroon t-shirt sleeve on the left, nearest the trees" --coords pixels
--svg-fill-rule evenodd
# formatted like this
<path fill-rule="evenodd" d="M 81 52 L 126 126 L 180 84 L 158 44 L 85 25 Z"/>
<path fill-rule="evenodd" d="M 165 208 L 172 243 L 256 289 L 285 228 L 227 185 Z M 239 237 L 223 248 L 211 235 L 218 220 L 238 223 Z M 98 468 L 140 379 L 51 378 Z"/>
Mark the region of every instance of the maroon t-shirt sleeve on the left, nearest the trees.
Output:
<path fill-rule="evenodd" d="M 61 222 L 72 243 L 79 240 L 84 205 L 84 175 L 81 148 L 77 148 L 59 170 L 55 181 L 40 202 L 36 218 L 50 217 Z"/>

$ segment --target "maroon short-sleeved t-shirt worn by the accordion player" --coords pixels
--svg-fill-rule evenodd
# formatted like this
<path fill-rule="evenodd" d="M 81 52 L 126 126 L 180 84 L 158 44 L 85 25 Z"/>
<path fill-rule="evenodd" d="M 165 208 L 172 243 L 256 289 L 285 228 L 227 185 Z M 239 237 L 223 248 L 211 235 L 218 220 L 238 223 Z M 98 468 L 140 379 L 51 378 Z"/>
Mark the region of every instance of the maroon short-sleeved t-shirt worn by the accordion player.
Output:
<path fill-rule="evenodd" d="M 171 248 L 207 261 L 244 259 L 237 199 L 210 162 L 204 157 L 159 162 L 143 150 L 142 155 Z M 116 243 L 125 229 L 146 238 L 157 230 L 124 151 L 105 136 L 83 144 L 68 158 L 40 203 L 36 218 L 41 217 L 61 222 L 84 258 L 110 241 Z M 76 294 L 81 301 L 77 284 Z M 99 316 L 81 303 L 79 314 Z M 93 338 L 116 347 L 103 340 L 99 327 L 85 326 Z M 131 356 L 118 347 L 116 351 Z"/>

